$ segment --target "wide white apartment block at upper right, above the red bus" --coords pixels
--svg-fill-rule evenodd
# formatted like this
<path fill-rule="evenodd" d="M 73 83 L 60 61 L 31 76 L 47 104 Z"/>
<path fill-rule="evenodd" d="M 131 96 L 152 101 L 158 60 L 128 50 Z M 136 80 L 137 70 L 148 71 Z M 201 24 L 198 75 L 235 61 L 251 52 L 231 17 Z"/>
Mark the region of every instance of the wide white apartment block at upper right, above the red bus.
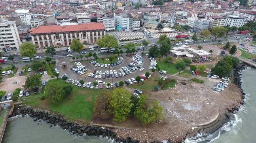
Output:
<path fill-rule="evenodd" d="M 222 15 L 222 17 L 226 17 L 224 26 L 237 26 L 239 28 L 245 24 L 245 17 L 239 17 L 237 15 Z"/>

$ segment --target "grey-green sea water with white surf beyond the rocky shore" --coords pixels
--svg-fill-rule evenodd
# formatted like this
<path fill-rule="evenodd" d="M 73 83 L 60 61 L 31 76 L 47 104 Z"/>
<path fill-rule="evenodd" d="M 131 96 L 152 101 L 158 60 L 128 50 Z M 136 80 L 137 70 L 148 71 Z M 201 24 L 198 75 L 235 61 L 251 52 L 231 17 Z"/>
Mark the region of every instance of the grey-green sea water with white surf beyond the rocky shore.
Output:
<path fill-rule="evenodd" d="M 245 106 L 241 106 L 235 118 L 216 132 L 197 134 L 195 140 L 185 143 L 255 143 L 256 142 L 256 69 L 243 71 L 242 88 L 246 94 Z M 9 118 L 2 143 L 114 143 L 108 137 L 90 137 L 70 134 L 59 126 L 49 127 L 45 121 L 34 122 L 31 117 L 17 115 Z"/>

